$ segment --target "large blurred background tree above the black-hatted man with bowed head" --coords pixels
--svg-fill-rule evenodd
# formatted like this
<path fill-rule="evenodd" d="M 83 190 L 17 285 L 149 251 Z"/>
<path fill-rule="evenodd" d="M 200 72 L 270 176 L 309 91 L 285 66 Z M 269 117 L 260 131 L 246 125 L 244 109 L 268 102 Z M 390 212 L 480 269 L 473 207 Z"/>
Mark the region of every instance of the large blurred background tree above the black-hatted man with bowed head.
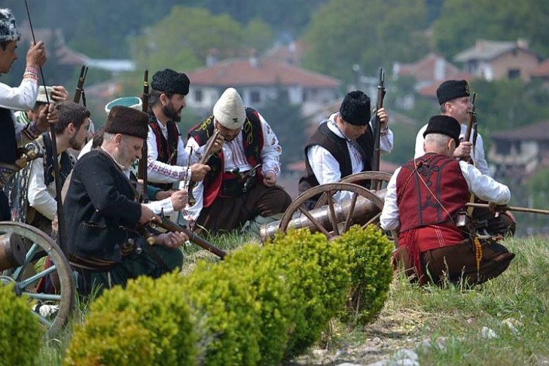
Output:
<path fill-rule="evenodd" d="M 310 48 L 303 65 L 351 80 L 364 70 L 410 62 L 428 52 L 424 0 L 331 0 L 314 13 L 303 36 Z"/>

